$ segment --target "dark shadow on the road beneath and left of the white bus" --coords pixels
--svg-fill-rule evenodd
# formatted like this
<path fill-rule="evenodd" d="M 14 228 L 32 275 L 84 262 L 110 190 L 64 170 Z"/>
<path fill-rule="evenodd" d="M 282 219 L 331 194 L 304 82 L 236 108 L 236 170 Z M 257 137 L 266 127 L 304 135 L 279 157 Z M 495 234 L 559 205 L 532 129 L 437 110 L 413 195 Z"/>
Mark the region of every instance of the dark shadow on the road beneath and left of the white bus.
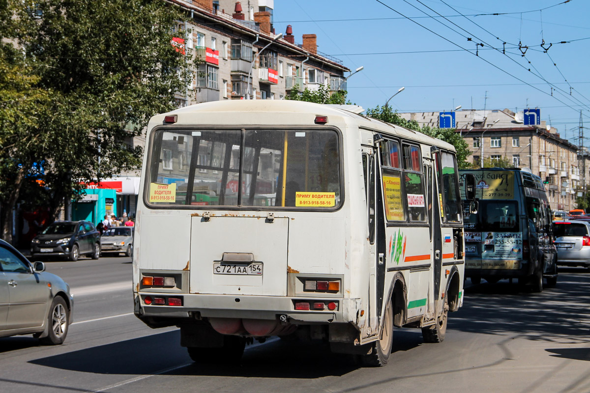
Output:
<path fill-rule="evenodd" d="M 113 355 L 116 354 L 116 355 Z M 277 340 L 247 346 L 239 364 L 192 363 L 180 346 L 179 331 L 94 346 L 30 361 L 32 364 L 87 372 L 122 375 L 207 375 L 218 377 L 322 378 L 348 374 L 358 366 L 352 356 L 332 354 L 326 344 Z M 187 366 L 161 372 L 171 365 Z"/>

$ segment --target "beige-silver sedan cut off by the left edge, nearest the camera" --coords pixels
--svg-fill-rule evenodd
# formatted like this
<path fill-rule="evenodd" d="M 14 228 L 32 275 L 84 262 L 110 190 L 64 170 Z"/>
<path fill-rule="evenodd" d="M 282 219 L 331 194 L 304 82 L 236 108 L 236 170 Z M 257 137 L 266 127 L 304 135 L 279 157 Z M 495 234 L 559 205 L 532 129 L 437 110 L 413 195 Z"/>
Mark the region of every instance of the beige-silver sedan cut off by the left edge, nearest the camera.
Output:
<path fill-rule="evenodd" d="M 45 272 L 0 240 L 0 337 L 33 334 L 42 344 L 65 340 L 74 296 L 60 277 Z"/>

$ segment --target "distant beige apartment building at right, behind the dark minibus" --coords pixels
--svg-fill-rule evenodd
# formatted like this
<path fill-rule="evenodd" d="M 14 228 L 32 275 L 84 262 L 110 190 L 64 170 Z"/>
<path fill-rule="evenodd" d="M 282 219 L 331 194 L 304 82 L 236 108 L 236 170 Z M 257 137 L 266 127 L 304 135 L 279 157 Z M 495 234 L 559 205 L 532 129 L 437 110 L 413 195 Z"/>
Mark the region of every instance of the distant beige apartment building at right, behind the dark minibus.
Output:
<path fill-rule="evenodd" d="M 439 112 L 399 115 L 417 121 L 420 126 L 440 124 Z M 468 160 L 473 166 L 481 166 L 483 157 L 491 161 L 508 160 L 514 167 L 529 168 L 548 181 L 545 187 L 552 209 L 575 208 L 576 197 L 588 188 L 584 187 L 590 181 L 588 156 L 583 156 L 585 164 L 578 161 L 578 146 L 560 137 L 545 121 L 528 126 L 523 124 L 522 111 L 515 113 L 508 109 L 460 110 L 455 111 L 454 118 L 456 132 L 471 151 Z"/>

